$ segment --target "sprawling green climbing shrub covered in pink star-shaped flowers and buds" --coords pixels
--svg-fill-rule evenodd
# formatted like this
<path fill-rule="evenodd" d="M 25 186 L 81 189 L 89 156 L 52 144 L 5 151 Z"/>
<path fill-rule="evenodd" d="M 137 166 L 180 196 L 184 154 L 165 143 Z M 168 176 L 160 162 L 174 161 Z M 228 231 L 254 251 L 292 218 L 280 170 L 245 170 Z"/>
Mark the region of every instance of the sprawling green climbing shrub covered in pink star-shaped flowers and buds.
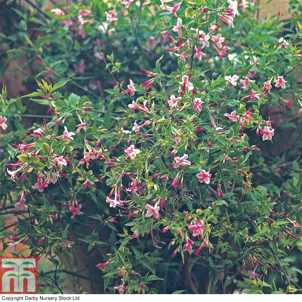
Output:
<path fill-rule="evenodd" d="M 300 255 L 301 156 L 271 156 L 268 140 L 288 127 L 301 145 L 301 7 L 290 2 L 289 28 L 278 16 L 258 21 L 256 8 L 14 8 L 5 56 L 26 53 L 36 76 L 20 98 L 2 90 L 1 214 L 18 217 L 1 230 L 3 250 L 26 241 L 58 272 L 58 253 L 72 257 L 73 245 L 98 253 L 104 263 L 89 262 L 104 278 L 97 293 L 300 290 L 287 253 Z M 25 127 L 29 100 L 47 113 Z M 171 284 L 181 271 L 185 283 Z"/>

